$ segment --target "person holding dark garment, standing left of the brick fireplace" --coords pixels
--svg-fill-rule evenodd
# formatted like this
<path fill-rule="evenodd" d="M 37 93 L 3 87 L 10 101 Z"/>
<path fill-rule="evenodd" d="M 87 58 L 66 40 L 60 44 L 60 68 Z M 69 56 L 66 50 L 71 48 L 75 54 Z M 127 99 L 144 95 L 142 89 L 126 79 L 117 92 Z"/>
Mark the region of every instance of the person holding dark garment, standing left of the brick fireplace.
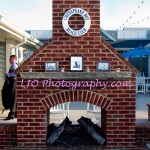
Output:
<path fill-rule="evenodd" d="M 5 83 L 2 89 L 2 102 L 4 106 L 4 110 L 10 109 L 8 116 L 5 120 L 14 119 L 17 117 L 16 113 L 16 75 L 14 74 L 14 70 L 18 68 L 18 64 L 16 63 L 17 56 L 11 55 L 9 62 L 11 64 L 9 72 L 5 74 Z M 4 111 L 3 110 L 3 111 Z"/>

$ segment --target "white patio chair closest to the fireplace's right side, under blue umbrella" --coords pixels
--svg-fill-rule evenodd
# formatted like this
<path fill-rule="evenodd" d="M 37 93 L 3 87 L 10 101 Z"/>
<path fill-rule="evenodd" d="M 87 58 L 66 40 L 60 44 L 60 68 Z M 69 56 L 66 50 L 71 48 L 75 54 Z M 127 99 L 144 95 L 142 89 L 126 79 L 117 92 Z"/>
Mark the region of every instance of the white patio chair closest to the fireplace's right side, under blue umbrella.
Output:
<path fill-rule="evenodd" d="M 145 94 L 145 77 L 136 77 L 136 94 Z"/>

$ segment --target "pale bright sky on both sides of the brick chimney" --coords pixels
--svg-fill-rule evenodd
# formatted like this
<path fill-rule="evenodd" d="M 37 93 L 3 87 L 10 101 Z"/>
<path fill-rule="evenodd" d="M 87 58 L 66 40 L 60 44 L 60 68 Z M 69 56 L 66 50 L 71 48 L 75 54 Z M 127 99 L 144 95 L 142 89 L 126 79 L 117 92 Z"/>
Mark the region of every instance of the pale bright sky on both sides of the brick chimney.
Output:
<path fill-rule="evenodd" d="M 50 30 L 51 3 L 52 0 L 0 0 L 0 15 L 23 30 Z M 101 0 L 100 5 L 103 29 L 121 29 L 123 24 L 150 27 L 150 0 Z"/>

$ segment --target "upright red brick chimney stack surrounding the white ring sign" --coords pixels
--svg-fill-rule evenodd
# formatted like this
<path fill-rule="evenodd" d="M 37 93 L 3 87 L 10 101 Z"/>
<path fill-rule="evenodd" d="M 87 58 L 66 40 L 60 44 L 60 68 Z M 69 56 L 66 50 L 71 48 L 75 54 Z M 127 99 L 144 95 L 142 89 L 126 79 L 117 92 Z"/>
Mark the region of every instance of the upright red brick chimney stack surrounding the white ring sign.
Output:
<path fill-rule="evenodd" d="M 53 37 L 57 40 L 69 40 L 71 38 L 63 30 L 62 19 L 64 14 L 72 8 L 82 8 L 90 16 L 91 26 L 87 34 L 75 40 L 100 40 L 100 1 L 99 0 L 53 0 Z M 80 12 L 82 14 L 82 12 Z M 83 13 L 83 16 L 86 13 Z M 68 13 L 68 15 L 70 15 Z M 84 18 L 81 15 L 71 15 L 69 26 L 74 29 L 81 29 L 84 25 Z M 92 39 L 93 37 L 93 39 Z M 59 38 L 59 39 L 58 39 Z M 96 39 L 97 38 L 97 39 Z"/>

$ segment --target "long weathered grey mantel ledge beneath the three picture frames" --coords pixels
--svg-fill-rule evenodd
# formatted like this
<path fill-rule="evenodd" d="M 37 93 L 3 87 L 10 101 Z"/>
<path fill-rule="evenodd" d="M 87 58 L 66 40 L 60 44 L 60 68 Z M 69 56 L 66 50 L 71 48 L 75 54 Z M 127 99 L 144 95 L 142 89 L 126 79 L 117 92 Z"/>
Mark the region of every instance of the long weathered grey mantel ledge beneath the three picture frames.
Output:
<path fill-rule="evenodd" d="M 131 79 L 132 72 L 20 72 L 23 79 L 120 80 Z"/>

